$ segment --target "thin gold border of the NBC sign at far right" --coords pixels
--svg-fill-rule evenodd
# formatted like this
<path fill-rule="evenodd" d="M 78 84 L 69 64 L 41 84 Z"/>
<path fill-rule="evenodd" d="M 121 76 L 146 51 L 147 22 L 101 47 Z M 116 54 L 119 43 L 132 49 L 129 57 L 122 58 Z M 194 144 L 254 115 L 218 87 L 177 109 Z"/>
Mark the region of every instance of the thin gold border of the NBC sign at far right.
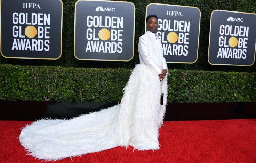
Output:
<path fill-rule="evenodd" d="M 245 12 L 238 12 L 238 11 L 227 11 L 227 10 L 213 10 L 213 12 L 211 12 L 211 18 L 212 18 L 212 15 L 215 11 L 224 11 L 224 12 L 230 12 L 230 13 L 243 13 L 243 14 L 252 14 L 252 15 L 256 15 L 254 13 L 245 13 Z M 251 65 L 232 65 L 232 64 L 213 64 L 213 63 L 210 63 L 209 61 L 209 52 L 210 52 L 210 40 L 211 40 L 211 19 L 210 19 L 210 33 L 209 33 L 209 45 L 208 45 L 208 62 L 209 64 L 211 65 L 225 65 L 225 66 L 251 66 L 254 64 L 255 62 L 255 52 L 256 52 L 256 40 L 255 40 L 255 49 L 254 49 L 254 60 L 253 60 L 253 63 Z"/>

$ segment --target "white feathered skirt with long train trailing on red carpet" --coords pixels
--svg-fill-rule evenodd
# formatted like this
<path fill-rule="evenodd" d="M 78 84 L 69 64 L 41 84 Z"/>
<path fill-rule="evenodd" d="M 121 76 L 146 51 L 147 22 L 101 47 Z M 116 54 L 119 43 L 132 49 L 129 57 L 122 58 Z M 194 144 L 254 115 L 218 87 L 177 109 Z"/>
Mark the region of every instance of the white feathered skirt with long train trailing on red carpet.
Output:
<path fill-rule="evenodd" d="M 163 92 L 164 104 L 160 106 L 158 74 L 138 64 L 123 89 L 120 104 L 69 120 L 38 120 L 22 129 L 19 140 L 29 155 L 47 161 L 117 146 L 157 150 L 158 130 L 165 114 L 166 78 Z"/>

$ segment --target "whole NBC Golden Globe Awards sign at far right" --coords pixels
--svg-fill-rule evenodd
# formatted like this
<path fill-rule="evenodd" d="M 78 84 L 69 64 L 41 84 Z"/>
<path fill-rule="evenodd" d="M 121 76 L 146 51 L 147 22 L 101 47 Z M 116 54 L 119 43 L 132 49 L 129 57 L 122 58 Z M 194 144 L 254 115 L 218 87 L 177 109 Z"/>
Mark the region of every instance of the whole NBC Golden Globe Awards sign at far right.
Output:
<path fill-rule="evenodd" d="M 211 13 L 210 64 L 251 66 L 255 49 L 256 14 L 222 10 Z"/>

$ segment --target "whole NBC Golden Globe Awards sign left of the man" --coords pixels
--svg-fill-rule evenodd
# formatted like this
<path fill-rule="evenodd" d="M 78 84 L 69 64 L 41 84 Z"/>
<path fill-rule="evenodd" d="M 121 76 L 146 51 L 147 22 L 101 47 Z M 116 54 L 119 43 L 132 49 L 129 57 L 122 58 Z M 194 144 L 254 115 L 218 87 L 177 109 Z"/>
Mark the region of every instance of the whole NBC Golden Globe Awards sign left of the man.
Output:
<path fill-rule="evenodd" d="M 79 60 L 129 61 L 134 54 L 131 2 L 79 0 L 75 4 L 74 55 Z"/>

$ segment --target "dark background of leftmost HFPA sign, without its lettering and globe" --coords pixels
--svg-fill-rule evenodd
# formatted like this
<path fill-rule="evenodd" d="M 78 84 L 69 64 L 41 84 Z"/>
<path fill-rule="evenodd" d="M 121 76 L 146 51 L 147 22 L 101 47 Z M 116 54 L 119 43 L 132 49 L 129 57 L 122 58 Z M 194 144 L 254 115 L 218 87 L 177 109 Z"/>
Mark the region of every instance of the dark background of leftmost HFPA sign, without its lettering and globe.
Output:
<path fill-rule="evenodd" d="M 23 8 L 23 3 L 28 4 Z M 33 3 L 39 6 L 34 6 Z M 40 8 L 39 8 L 40 7 Z M 63 4 L 61 0 L 1 0 L 1 54 L 6 58 L 27 58 L 27 59 L 58 59 L 61 57 L 62 48 L 62 9 Z M 25 38 L 16 39 L 29 39 L 30 43 L 32 39 L 38 40 L 38 34 L 34 38 L 28 38 L 25 35 L 25 28 L 30 25 L 26 24 L 14 24 L 13 13 L 27 13 L 28 21 L 31 22 L 32 13 L 50 14 L 50 27 L 48 29 L 49 39 L 42 38 L 41 40 L 49 40 L 49 50 L 45 51 L 30 51 L 30 50 L 12 50 L 15 37 L 13 36 L 13 26 L 21 26 L 21 35 Z M 42 21 L 43 22 L 43 21 Z M 44 27 L 44 25 L 32 25 L 36 29 L 38 26 Z"/>

